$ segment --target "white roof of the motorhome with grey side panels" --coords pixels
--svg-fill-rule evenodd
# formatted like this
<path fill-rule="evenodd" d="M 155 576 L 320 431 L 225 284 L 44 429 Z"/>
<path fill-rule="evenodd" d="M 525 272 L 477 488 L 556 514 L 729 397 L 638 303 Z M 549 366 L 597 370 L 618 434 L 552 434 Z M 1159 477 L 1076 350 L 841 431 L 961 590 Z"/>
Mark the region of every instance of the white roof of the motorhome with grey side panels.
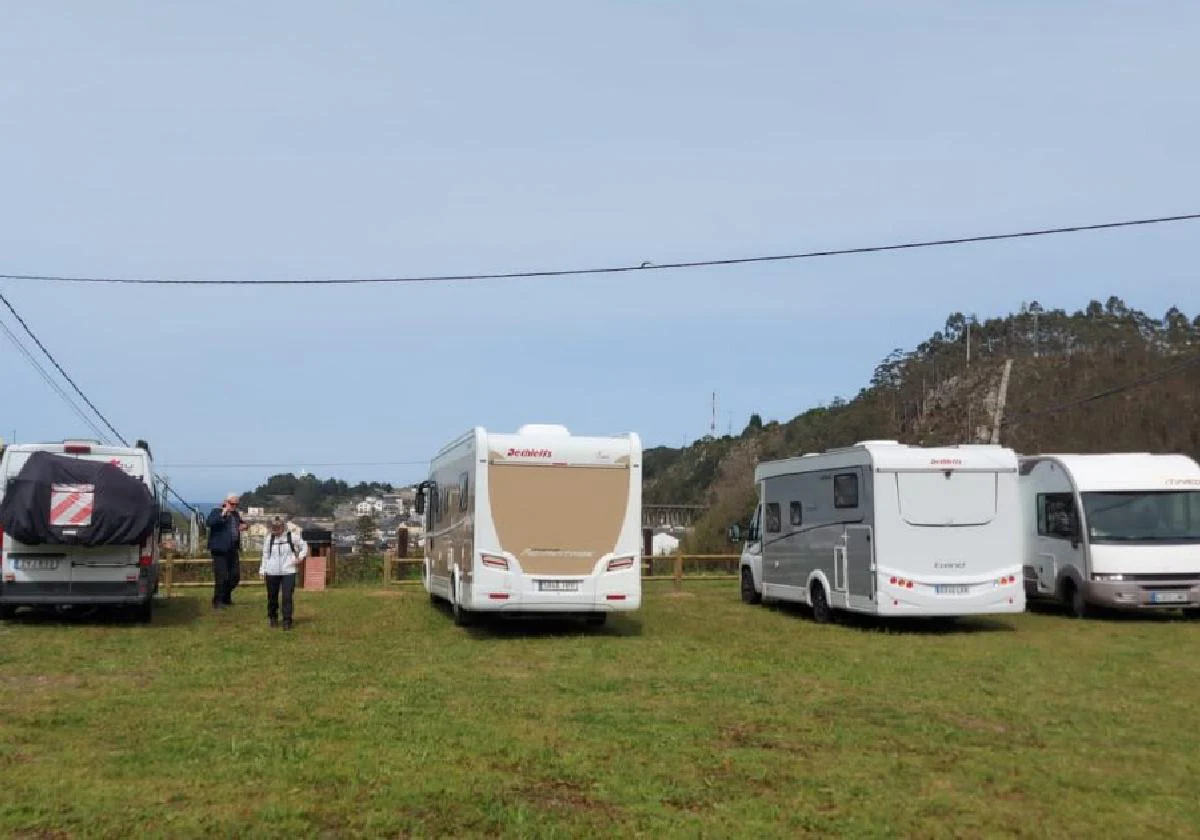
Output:
<path fill-rule="evenodd" d="M 875 470 L 1000 469 L 1016 470 L 1016 452 L 992 444 L 910 446 L 894 440 L 863 440 L 845 449 L 809 454 L 782 461 L 764 461 L 755 469 L 755 481 L 818 469 L 868 466 Z"/>

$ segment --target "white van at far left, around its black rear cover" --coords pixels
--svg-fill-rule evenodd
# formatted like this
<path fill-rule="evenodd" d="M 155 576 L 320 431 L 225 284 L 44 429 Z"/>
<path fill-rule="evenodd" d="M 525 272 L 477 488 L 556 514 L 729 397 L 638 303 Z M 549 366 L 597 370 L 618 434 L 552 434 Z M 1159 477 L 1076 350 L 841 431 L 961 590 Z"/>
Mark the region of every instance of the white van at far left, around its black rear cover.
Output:
<path fill-rule="evenodd" d="M 138 444 L 67 440 L 7 446 L 0 456 L 0 500 L 31 455 L 49 452 L 113 463 L 145 484 L 160 503 L 149 446 Z M 24 545 L 0 529 L 0 618 L 12 618 L 23 606 L 125 606 L 133 607 L 139 620 L 149 622 L 158 588 L 160 536 L 172 528 L 170 511 L 161 510 L 157 528 L 142 545 Z"/>

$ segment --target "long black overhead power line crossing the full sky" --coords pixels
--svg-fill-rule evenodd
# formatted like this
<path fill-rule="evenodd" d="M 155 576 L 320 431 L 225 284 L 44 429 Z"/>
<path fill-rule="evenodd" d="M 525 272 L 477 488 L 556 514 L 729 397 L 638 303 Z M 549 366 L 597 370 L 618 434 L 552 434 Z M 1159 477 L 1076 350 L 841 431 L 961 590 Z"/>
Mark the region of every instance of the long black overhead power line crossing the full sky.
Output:
<path fill-rule="evenodd" d="M 970 245 L 976 242 L 996 242 L 1007 239 L 1028 239 L 1031 236 L 1051 236 L 1064 233 L 1086 230 L 1109 230 L 1166 222 L 1184 222 L 1200 220 L 1200 212 L 1176 216 L 1157 216 L 1152 218 L 1130 218 L 1120 222 L 1100 222 L 1096 224 L 1072 224 L 1056 228 L 1019 230 L 1015 233 L 994 233 L 955 239 L 930 239 L 893 245 L 870 245 L 853 248 L 827 251 L 804 251 L 799 253 L 767 254 L 757 257 L 733 257 L 728 259 L 697 259 L 677 263 L 642 262 L 637 265 L 612 265 L 589 269 L 558 269 L 545 271 L 510 271 L 498 274 L 458 274 L 458 275 L 418 275 L 409 277 L 332 277 L 332 278 L 292 278 L 292 280 L 181 280 L 168 277 L 78 277 L 41 274 L 0 274 L 0 280 L 24 280 L 55 283 L 121 283 L 131 286 L 359 286 L 367 283 L 442 283 L 469 280 L 518 280 L 524 277 L 569 277 L 580 275 L 623 274 L 626 271 L 667 271 L 674 269 L 700 269 L 722 265 L 745 265 L 748 263 L 775 263 L 794 259 L 815 259 L 817 257 L 845 257 L 848 254 L 880 253 L 883 251 L 907 251 L 914 248 L 944 247 L 948 245 Z"/>

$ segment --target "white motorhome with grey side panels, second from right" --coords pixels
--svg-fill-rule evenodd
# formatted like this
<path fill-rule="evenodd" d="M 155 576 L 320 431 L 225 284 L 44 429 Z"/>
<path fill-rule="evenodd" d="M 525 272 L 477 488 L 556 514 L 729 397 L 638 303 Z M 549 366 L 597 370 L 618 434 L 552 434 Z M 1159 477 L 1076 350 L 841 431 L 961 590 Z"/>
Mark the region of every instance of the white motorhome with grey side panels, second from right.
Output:
<path fill-rule="evenodd" d="M 794 601 L 817 622 L 1025 610 L 1016 454 L 865 440 L 763 462 L 740 560 L 744 601 Z M 740 524 L 730 539 L 743 540 Z"/>

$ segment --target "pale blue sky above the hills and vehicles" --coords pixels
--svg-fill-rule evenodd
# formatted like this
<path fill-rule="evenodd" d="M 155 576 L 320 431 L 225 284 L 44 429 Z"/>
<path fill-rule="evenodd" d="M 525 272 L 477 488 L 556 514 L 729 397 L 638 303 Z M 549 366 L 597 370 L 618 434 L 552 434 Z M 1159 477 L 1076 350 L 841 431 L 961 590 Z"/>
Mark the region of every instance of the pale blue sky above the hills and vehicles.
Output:
<path fill-rule="evenodd" d="M 498 272 L 1198 212 L 1198 42 L 1188 0 L 10 4 L 0 274 Z M 680 445 L 714 391 L 738 432 L 852 396 L 954 311 L 1194 316 L 1198 244 L 1182 222 L 636 275 L 0 292 L 210 499 L 276 472 L 418 480 L 475 425 Z M 13 436 L 95 437 L 0 335 Z M 371 466 L 318 466 L 347 462 Z M 259 463 L 281 467 L 226 466 Z"/>

